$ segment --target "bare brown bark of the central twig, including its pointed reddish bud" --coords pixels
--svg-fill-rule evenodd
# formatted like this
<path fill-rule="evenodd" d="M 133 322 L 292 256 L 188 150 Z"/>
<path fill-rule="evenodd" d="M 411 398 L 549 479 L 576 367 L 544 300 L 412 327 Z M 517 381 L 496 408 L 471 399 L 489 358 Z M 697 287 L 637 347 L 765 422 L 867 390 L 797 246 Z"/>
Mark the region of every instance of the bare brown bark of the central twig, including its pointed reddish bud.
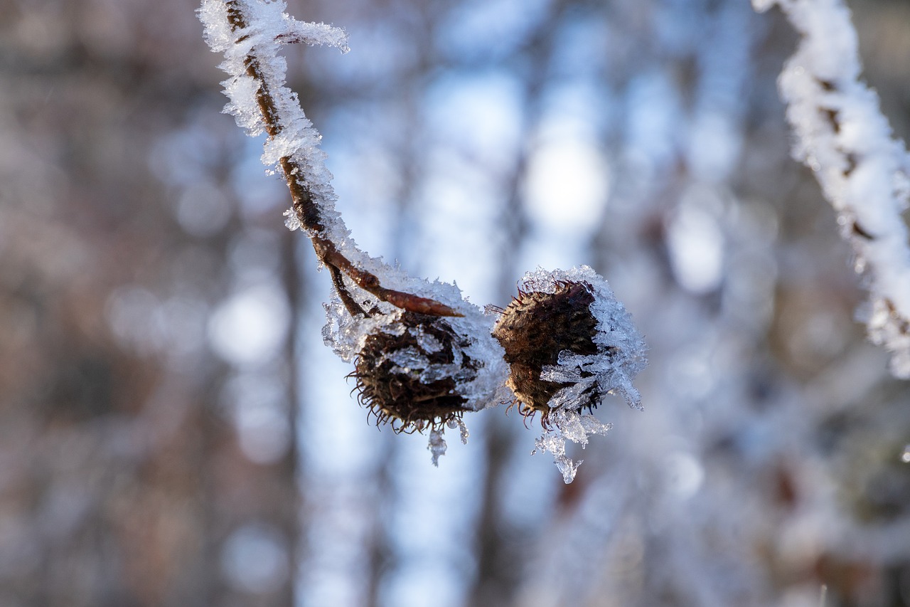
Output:
<path fill-rule="evenodd" d="M 227 21 L 230 23 L 231 31 L 234 32 L 245 29 L 248 26 L 248 19 L 243 14 L 238 0 L 228 0 Z M 244 37 L 239 38 L 238 42 L 243 39 Z M 277 137 L 282 129 L 281 119 L 278 115 L 275 99 L 272 97 L 266 78 L 263 76 L 258 58 L 251 52 L 245 59 L 244 64 L 247 67 L 248 76 L 256 80 L 259 85 L 256 99 L 259 110 L 262 112 L 262 118 L 265 121 L 266 132 L 269 137 Z M 313 201 L 308 184 L 303 179 L 302 167 L 299 166 L 295 159 L 289 156 L 280 159 L 278 165 L 281 167 L 285 180 L 288 182 L 288 190 L 290 190 L 291 199 L 293 200 L 294 212 L 297 214 L 300 225 L 308 232 L 319 261 L 329 268 L 332 283 L 335 285 L 341 302 L 347 308 L 349 314 L 356 316 L 358 314 L 369 315 L 371 313 L 365 311 L 360 304 L 354 301 L 342 280 L 342 273 L 347 275 L 361 289 L 378 297 L 380 301 L 388 302 L 409 312 L 429 314 L 431 316 L 461 315 L 448 305 L 436 300 L 420 297 L 413 293 L 387 289 L 379 283 L 379 278 L 375 274 L 357 267 L 339 251 L 335 242 L 332 242 L 325 235 L 326 227 L 322 223 L 319 205 Z"/>

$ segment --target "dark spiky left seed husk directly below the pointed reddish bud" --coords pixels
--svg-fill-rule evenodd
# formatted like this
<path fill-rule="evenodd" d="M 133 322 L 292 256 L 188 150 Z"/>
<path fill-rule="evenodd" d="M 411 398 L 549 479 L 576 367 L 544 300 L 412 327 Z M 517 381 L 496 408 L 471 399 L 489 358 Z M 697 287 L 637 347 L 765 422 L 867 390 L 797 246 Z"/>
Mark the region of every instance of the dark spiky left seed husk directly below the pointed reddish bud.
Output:
<path fill-rule="evenodd" d="M 464 353 L 468 345 L 444 318 L 401 313 L 366 337 L 354 361 L 360 404 L 399 432 L 441 429 L 470 410 L 459 386 L 480 363 Z"/>

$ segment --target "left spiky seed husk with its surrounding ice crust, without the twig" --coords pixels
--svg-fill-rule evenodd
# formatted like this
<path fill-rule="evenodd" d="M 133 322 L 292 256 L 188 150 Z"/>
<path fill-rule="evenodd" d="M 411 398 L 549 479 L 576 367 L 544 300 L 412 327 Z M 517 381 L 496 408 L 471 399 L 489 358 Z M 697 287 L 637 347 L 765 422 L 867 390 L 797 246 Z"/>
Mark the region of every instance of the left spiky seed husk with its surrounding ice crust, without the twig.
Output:
<path fill-rule="evenodd" d="M 465 442 L 462 415 L 507 398 L 502 348 L 490 334 L 494 318 L 462 298 L 453 284 L 415 280 L 378 260 L 368 262 L 364 267 L 389 288 L 434 299 L 460 314 L 405 311 L 353 284 L 350 292 L 369 314 L 350 314 L 338 292 L 325 304 L 323 340 L 354 364 L 350 377 L 357 381 L 360 404 L 378 424 L 404 432 L 428 430 L 435 462 L 446 448 L 446 427 L 458 428 Z"/>

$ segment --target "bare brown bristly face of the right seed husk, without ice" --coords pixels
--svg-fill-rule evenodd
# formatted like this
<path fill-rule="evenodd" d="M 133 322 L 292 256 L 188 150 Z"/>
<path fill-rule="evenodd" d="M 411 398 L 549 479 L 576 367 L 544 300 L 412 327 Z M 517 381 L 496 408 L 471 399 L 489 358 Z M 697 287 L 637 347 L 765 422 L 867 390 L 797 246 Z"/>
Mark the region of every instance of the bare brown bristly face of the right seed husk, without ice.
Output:
<path fill-rule="evenodd" d="M 510 365 L 507 384 L 518 399 L 521 414 L 530 417 L 540 411 L 545 426 L 550 399 L 571 384 L 542 380 L 543 368 L 557 365 L 564 351 L 575 355 L 598 353 L 591 291 L 589 283 L 562 281 L 555 283 L 553 293 L 520 291 L 493 328 L 493 337 L 499 340 L 505 350 L 505 361 Z M 577 410 L 594 408 L 601 397 L 597 383 L 592 382 L 576 401 Z"/>

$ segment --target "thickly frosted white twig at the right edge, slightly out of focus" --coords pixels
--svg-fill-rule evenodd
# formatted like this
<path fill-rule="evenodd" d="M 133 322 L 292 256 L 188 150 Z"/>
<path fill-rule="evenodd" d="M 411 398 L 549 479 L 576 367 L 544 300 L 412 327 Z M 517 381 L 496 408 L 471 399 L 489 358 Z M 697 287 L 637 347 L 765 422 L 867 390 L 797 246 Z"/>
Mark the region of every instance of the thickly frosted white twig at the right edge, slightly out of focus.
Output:
<path fill-rule="evenodd" d="M 837 211 L 870 298 L 860 314 L 870 339 L 910 378 L 910 245 L 901 213 L 910 157 L 895 140 L 875 91 L 859 80 L 856 32 L 843 0 L 753 0 L 777 4 L 802 40 L 778 80 L 796 134 L 794 157 L 813 170 Z"/>

